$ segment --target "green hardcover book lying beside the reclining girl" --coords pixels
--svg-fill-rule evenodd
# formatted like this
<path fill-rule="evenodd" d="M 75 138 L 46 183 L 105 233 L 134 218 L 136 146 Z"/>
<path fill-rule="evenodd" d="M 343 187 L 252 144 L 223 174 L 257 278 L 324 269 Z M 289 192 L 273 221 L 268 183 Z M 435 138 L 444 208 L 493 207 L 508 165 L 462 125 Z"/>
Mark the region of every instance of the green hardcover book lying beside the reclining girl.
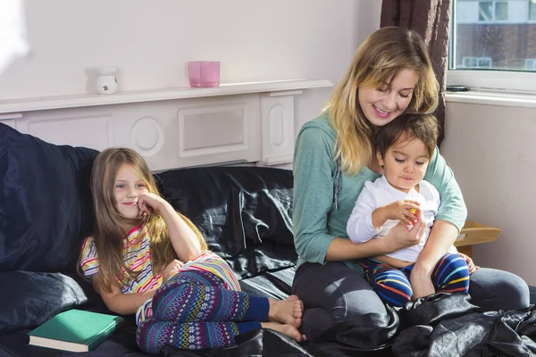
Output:
<path fill-rule="evenodd" d="M 122 322 L 123 318 L 104 313 L 63 311 L 30 331 L 29 345 L 88 352 L 111 336 Z"/>

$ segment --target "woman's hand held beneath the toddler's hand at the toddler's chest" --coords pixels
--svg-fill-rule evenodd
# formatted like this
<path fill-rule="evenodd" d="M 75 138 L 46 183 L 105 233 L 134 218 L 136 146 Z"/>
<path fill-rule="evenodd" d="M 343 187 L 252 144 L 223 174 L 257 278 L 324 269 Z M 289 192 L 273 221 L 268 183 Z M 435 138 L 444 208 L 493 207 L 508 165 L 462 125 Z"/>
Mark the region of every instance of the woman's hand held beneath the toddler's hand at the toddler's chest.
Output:
<path fill-rule="evenodd" d="M 400 249 L 418 245 L 421 242 L 426 224 L 424 223 L 423 212 L 418 211 L 416 216 L 417 218 L 412 223 L 413 227 L 411 229 L 407 228 L 406 223 L 400 220 L 395 227 L 389 230 L 387 236 L 381 239 L 387 245 L 386 253 L 397 252 Z"/>

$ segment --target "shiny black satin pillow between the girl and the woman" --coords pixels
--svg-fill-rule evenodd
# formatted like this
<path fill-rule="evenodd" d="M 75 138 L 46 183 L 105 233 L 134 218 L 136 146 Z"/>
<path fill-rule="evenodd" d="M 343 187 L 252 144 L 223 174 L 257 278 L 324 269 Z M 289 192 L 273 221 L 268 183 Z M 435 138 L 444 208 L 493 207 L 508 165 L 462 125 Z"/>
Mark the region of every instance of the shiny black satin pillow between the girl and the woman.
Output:
<path fill-rule="evenodd" d="M 205 167 L 161 172 L 156 180 L 241 278 L 296 265 L 291 170 Z"/>

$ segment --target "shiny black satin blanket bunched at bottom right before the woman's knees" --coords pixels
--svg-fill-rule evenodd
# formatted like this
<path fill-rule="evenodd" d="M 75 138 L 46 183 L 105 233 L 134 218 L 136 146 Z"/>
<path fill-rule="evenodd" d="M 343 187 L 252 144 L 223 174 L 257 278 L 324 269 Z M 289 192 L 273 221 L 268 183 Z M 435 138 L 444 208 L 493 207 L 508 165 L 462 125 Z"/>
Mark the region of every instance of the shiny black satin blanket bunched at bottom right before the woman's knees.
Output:
<path fill-rule="evenodd" d="M 397 356 L 532 356 L 536 311 L 488 311 L 468 295 L 435 295 L 400 311 L 406 328 L 395 339 Z"/>

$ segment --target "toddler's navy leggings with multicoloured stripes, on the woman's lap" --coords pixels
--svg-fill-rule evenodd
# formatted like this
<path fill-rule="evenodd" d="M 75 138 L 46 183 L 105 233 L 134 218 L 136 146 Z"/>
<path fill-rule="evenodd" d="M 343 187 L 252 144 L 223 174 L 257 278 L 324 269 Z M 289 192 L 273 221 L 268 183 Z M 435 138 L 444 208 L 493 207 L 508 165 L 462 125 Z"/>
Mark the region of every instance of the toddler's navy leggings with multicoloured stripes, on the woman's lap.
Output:
<path fill-rule="evenodd" d="M 404 306 L 413 299 L 409 275 L 414 265 L 402 269 L 374 259 L 363 259 L 364 278 L 384 303 Z M 436 292 L 467 293 L 469 291 L 469 269 L 461 255 L 447 253 L 440 258 L 431 273 L 431 282 Z"/>

